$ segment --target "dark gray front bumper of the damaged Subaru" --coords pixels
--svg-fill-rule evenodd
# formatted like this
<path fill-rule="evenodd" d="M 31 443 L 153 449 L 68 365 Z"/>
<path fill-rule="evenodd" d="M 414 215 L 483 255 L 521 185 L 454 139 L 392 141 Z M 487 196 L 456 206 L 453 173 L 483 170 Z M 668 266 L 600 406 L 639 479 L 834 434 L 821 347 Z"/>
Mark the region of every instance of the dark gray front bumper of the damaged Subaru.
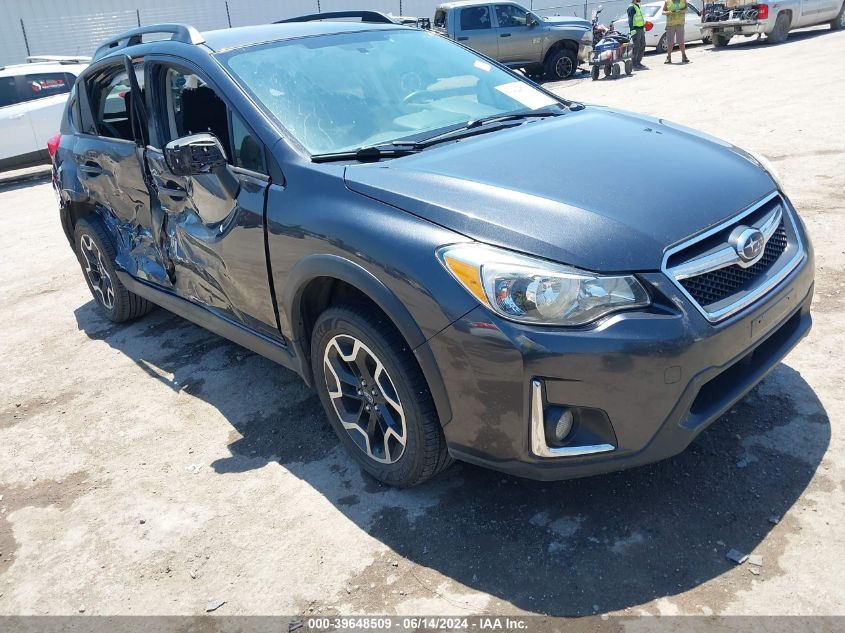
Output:
<path fill-rule="evenodd" d="M 670 457 L 760 382 L 811 327 L 809 244 L 803 261 L 765 299 L 715 325 L 662 273 L 640 278 L 654 305 L 589 329 L 519 325 L 479 306 L 430 339 L 453 413 L 444 426 L 451 454 L 545 480 Z M 538 381 L 543 405 L 606 414 L 611 430 L 587 444 L 611 448 L 538 456 L 531 432 Z"/>

